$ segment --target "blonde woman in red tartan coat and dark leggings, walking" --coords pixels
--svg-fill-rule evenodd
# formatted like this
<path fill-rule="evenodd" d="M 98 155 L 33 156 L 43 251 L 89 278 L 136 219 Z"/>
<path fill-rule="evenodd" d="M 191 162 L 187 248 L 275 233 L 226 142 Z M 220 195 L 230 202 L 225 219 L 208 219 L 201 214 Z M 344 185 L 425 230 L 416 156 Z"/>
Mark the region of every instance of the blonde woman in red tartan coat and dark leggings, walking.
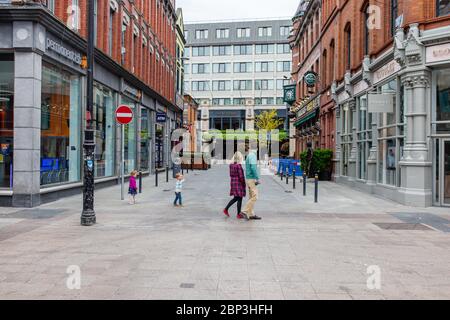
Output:
<path fill-rule="evenodd" d="M 237 203 L 237 218 L 242 219 L 243 216 L 241 214 L 241 207 L 242 207 L 242 199 L 246 195 L 246 185 L 245 185 L 245 175 L 244 175 L 244 169 L 242 168 L 243 156 L 242 153 L 239 151 L 234 154 L 233 157 L 233 163 L 230 164 L 230 196 L 233 196 L 234 198 L 231 199 L 231 201 L 228 203 L 227 207 L 223 210 L 223 213 L 229 217 L 230 214 L 228 212 L 228 209 L 231 208 L 231 206 L 235 203 Z"/>

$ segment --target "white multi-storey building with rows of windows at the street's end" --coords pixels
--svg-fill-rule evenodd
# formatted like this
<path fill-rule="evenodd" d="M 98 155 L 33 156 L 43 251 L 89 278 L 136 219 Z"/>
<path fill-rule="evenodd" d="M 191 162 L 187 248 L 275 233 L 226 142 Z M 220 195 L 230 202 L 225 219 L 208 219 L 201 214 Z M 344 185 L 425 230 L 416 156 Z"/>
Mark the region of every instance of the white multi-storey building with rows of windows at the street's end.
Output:
<path fill-rule="evenodd" d="M 185 25 L 185 90 L 200 104 L 202 130 L 253 130 L 255 116 L 276 109 L 286 119 L 291 20 Z"/>

